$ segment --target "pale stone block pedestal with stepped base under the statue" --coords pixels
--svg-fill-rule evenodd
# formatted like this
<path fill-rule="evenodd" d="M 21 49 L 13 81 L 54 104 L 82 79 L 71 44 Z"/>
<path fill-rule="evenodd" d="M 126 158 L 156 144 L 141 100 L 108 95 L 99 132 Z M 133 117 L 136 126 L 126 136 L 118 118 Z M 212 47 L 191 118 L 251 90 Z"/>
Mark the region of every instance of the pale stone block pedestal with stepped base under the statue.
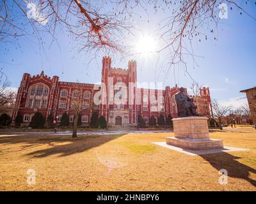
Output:
<path fill-rule="evenodd" d="M 168 145 L 192 150 L 223 148 L 222 140 L 210 139 L 207 117 L 179 117 L 172 120 L 174 138 L 166 138 Z"/>

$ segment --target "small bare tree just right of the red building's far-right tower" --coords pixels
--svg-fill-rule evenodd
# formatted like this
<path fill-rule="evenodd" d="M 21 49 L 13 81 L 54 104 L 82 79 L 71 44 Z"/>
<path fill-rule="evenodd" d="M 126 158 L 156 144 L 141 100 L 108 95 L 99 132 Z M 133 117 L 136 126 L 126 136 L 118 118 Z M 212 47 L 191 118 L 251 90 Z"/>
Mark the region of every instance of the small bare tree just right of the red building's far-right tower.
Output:
<path fill-rule="evenodd" d="M 220 124 L 220 129 L 222 128 L 225 116 L 227 113 L 231 110 L 232 106 L 222 106 L 218 101 L 215 99 L 212 101 L 212 110 L 213 110 L 213 117 L 215 117 L 218 120 L 218 123 Z"/>

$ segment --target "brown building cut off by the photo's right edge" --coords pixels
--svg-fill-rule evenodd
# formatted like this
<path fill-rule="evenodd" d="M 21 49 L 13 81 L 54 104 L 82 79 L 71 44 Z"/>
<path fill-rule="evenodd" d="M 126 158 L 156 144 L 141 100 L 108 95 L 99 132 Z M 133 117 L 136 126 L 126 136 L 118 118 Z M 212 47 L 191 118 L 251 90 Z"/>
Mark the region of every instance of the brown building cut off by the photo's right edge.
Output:
<path fill-rule="evenodd" d="M 240 92 L 246 93 L 253 124 L 256 124 L 256 87 L 245 89 Z"/>

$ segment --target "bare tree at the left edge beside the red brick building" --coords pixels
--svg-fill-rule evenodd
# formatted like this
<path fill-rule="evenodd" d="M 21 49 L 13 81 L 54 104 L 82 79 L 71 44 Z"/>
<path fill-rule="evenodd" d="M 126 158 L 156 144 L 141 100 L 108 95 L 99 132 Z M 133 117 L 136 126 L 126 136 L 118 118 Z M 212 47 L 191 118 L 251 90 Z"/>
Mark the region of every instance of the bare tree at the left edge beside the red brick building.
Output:
<path fill-rule="evenodd" d="M 10 89 L 10 82 L 0 71 L 0 113 L 11 113 L 16 98 L 16 92 Z"/>

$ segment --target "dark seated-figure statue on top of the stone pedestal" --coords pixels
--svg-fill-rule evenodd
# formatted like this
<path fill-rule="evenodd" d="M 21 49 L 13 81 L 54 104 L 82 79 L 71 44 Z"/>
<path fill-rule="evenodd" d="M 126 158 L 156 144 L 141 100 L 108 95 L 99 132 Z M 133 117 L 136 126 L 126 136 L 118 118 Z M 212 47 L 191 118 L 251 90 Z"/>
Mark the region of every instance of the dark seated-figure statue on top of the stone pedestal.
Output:
<path fill-rule="evenodd" d="M 175 95 L 175 101 L 177 103 L 179 117 L 198 116 L 196 112 L 197 107 L 193 103 L 193 99 L 188 97 L 183 87 L 180 87 L 180 92 Z"/>

